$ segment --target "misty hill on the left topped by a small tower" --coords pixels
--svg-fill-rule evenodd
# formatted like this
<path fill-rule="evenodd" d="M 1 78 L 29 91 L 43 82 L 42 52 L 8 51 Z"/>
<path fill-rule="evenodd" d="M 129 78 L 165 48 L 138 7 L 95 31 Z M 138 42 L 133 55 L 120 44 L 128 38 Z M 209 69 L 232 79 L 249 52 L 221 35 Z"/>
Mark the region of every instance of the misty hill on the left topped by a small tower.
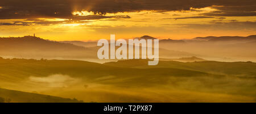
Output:
<path fill-rule="evenodd" d="M 97 50 L 34 36 L 1 37 L 0 55 L 19 58 L 96 58 Z"/>

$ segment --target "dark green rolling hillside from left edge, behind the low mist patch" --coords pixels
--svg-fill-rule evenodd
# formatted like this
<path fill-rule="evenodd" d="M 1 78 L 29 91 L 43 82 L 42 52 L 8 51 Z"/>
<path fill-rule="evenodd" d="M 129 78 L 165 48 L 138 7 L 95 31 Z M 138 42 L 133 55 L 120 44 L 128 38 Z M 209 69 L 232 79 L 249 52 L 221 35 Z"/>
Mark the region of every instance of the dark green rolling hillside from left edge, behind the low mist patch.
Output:
<path fill-rule="evenodd" d="M 119 66 L 119 65 L 117 65 Z M 121 65 L 122 66 L 122 65 Z M 201 71 L 184 70 L 168 67 L 152 67 L 148 69 L 137 69 L 127 67 L 106 66 L 86 61 L 73 60 L 0 60 L 1 78 L 5 81 L 19 82 L 29 76 L 46 77 L 51 74 L 66 74 L 74 78 L 90 78 L 91 81 L 97 78 L 105 77 L 106 75 L 114 75 L 118 78 L 129 78 L 123 82 L 118 82 L 120 85 L 126 83 L 137 83 L 138 85 L 152 85 L 153 83 L 166 82 L 166 78 L 171 76 L 179 77 L 200 77 L 200 76 L 215 76 Z M 147 78 L 145 78 L 147 77 Z M 152 78 L 158 78 L 152 80 Z M 141 82 L 142 81 L 142 82 Z M 101 82 L 101 83 L 107 83 Z"/>

